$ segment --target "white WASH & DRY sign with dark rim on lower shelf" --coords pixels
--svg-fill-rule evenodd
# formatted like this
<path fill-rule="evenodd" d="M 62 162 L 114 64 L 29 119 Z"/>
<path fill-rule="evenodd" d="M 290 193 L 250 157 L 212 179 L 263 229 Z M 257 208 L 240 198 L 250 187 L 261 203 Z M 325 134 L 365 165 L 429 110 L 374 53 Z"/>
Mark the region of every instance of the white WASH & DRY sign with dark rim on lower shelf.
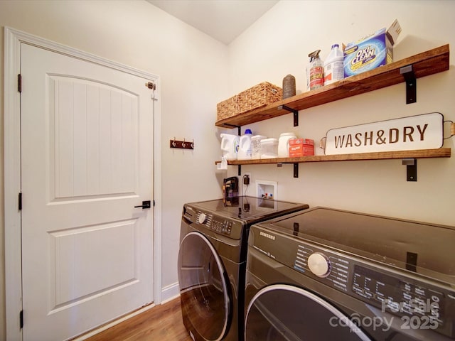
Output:
<path fill-rule="evenodd" d="M 444 117 L 439 112 L 331 129 L 326 155 L 441 148 Z"/>

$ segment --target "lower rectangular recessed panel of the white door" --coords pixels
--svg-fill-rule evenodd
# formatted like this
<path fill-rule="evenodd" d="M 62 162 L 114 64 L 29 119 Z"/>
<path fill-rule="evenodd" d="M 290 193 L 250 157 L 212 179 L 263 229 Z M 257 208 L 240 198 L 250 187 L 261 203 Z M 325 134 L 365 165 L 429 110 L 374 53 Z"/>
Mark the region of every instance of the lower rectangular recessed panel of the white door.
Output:
<path fill-rule="evenodd" d="M 51 313 L 136 282 L 137 232 L 137 220 L 51 232 Z"/>

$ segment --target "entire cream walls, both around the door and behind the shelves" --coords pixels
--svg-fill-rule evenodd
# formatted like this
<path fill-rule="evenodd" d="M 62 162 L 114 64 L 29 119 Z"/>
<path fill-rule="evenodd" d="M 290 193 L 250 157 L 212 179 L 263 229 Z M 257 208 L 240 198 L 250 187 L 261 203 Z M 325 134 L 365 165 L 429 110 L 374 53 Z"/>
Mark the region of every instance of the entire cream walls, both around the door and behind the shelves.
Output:
<path fill-rule="evenodd" d="M 403 29 L 395 60 L 446 43 L 455 46 L 453 13 L 455 1 L 282 0 L 229 48 L 145 1 L 0 1 L 0 26 L 11 26 L 161 76 L 163 150 L 158 166 L 163 175 L 162 286 L 166 287 L 177 281 L 183 202 L 220 197 L 220 179 L 226 176 L 215 172 L 213 164 L 220 154 L 217 135 L 221 130 L 214 126 L 216 103 L 265 80 L 281 85 L 289 73 L 296 77 L 301 91 L 309 52 L 321 48 L 321 57 L 325 58 L 331 44 L 355 40 L 390 25 L 395 18 Z M 3 63 L 1 53 L 1 80 Z M 296 131 L 299 136 L 319 140 L 331 128 L 426 112 L 441 112 L 455 121 L 453 64 L 451 57 L 451 70 L 417 80 L 416 104 L 406 105 L 404 85 L 395 85 L 302 111 L 297 129 L 292 127 L 291 115 L 252 124 L 251 128 L 271 137 Z M 3 126 L 1 160 L 2 134 Z M 195 150 L 169 149 L 168 140 L 173 136 L 194 139 Z M 444 146 L 453 149 L 454 139 L 446 140 Z M 453 157 L 419 160 L 417 183 L 405 181 L 405 166 L 400 160 L 301 164 L 297 179 L 292 177 L 289 165 L 243 166 L 242 171 L 251 172 L 253 182 L 277 180 L 282 199 L 455 224 L 450 215 L 454 166 Z M 3 178 L 1 172 L 3 165 Z M 230 167 L 228 173 L 235 175 L 237 168 Z M 3 214 L 3 183 L 0 188 Z M 0 231 L 2 339 L 4 228 Z"/>

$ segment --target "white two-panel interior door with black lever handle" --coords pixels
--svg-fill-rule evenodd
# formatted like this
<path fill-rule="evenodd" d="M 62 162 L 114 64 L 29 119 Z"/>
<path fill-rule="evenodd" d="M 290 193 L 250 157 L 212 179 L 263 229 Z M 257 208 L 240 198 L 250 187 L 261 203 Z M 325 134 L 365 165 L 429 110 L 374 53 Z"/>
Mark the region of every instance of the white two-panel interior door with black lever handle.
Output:
<path fill-rule="evenodd" d="M 24 43 L 21 75 L 23 340 L 66 340 L 154 301 L 153 101 Z"/>

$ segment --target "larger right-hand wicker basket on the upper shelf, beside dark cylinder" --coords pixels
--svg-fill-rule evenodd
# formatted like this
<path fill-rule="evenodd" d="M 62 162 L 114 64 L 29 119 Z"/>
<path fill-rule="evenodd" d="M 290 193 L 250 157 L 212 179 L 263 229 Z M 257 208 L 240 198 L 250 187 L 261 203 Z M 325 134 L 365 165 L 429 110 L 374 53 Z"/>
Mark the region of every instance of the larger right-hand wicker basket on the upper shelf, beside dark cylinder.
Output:
<path fill-rule="evenodd" d="M 283 90 L 277 85 L 262 82 L 238 94 L 238 113 L 243 114 L 250 110 L 265 107 L 282 99 Z"/>

